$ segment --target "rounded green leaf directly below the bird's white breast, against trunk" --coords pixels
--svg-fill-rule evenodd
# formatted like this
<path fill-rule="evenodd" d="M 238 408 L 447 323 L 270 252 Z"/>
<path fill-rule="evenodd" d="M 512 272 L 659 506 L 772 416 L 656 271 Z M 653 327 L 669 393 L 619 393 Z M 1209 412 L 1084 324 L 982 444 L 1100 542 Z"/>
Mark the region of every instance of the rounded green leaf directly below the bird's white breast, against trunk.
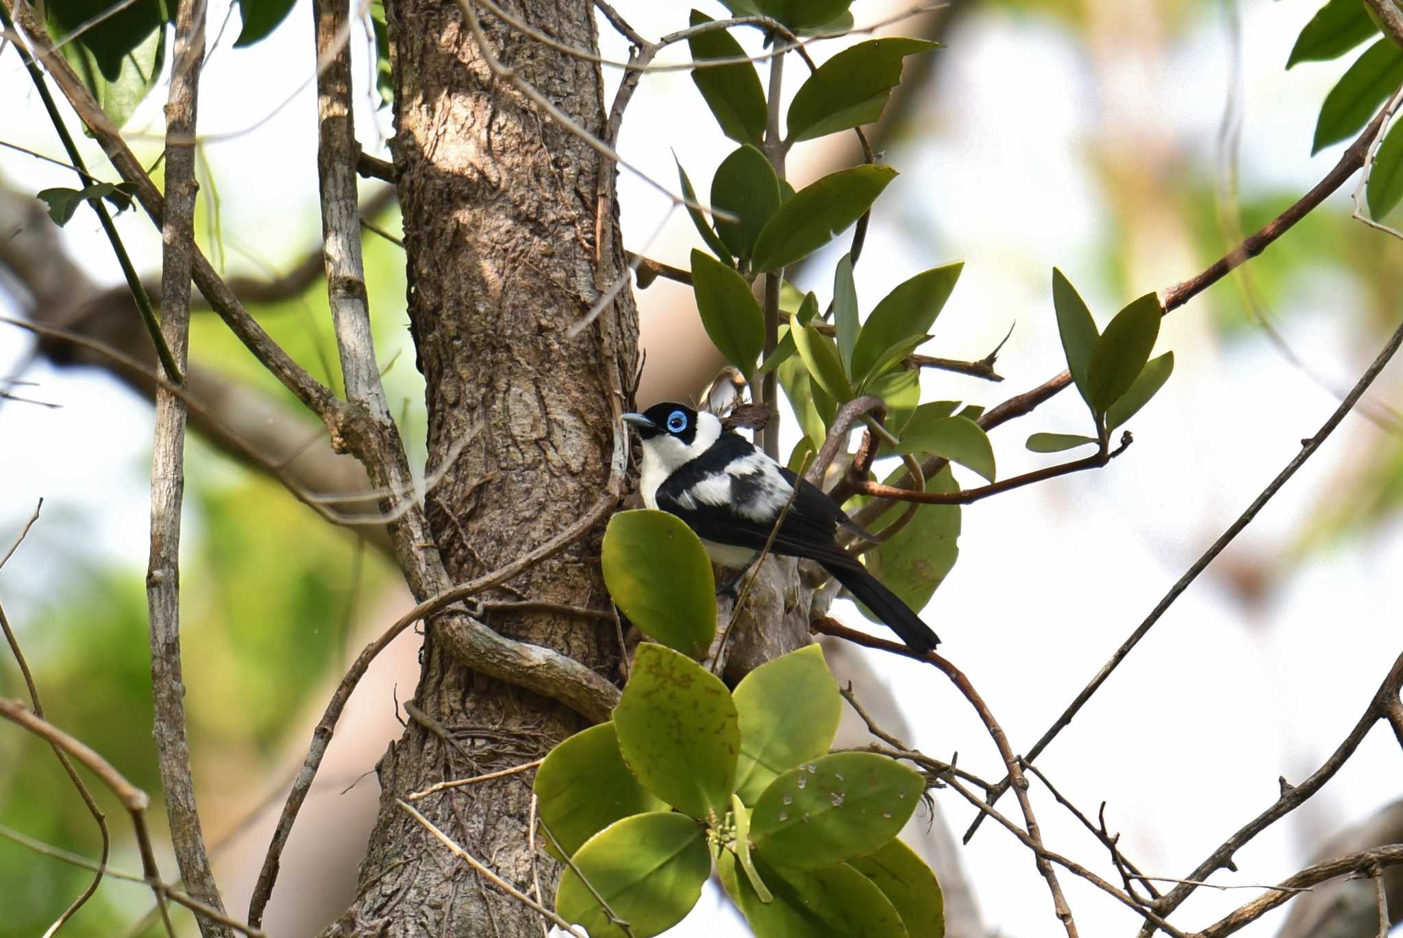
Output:
<path fill-rule="evenodd" d="M 605 586 L 644 635 L 700 657 L 716 636 L 716 577 L 706 548 L 666 511 L 609 518 L 599 553 Z"/>

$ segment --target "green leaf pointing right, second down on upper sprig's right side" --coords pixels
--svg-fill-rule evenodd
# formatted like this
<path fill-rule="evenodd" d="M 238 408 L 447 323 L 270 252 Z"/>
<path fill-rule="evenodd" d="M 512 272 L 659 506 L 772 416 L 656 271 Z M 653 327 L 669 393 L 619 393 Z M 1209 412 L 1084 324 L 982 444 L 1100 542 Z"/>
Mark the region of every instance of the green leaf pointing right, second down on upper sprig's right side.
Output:
<path fill-rule="evenodd" d="M 755 239 L 751 268 L 763 274 L 808 257 L 861 218 L 895 177 L 890 166 L 854 166 L 805 185 Z"/>

